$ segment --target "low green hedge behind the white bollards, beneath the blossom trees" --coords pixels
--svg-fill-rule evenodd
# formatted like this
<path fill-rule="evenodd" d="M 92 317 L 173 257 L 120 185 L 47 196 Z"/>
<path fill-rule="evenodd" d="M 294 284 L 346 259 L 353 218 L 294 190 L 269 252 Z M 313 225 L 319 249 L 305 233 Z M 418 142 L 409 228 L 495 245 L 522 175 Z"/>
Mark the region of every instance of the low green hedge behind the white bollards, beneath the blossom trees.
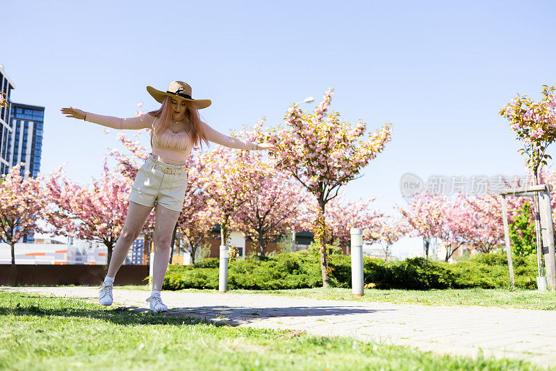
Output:
<path fill-rule="evenodd" d="M 322 287 L 320 258 L 310 251 L 279 254 L 275 258 L 250 256 L 231 260 L 228 288 L 282 290 Z M 516 287 L 536 288 L 536 256 L 514 257 Z M 193 266 L 170 265 L 164 290 L 218 289 L 218 259 L 208 258 Z M 330 285 L 351 287 L 351 260 L 346 255 L 329 256 Z M 506 255 L 481 254 L 464 262 L 448 264 L 423 258 L 384 262 L 363 258 L 365 284 L 380 289 L 432 290 L 446 288 L 509 287 Z"/>

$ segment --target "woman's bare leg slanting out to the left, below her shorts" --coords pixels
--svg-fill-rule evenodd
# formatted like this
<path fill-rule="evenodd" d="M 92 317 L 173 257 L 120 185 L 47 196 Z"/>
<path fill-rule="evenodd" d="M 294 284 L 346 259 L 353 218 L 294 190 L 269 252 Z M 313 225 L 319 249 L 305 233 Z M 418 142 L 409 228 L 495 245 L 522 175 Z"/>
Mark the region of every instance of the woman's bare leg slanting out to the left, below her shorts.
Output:
<path fill-rule="evenodd" d="M 120 269 L 127 256 L 129 247 L 139 237 L 143 226 L 145 226 L 145 221 L 147 221 L 151 210 L 151 206 L 139 205 L 129 201 L 124 228 L 122 228 L 122 233 L 120 233 L 120 237 L 118 237 L 116 246 L 114 246 L 112 251 L 112 258 L 108 265 L 108 274 L 106 276 L 116 276 L 117 270 Z"/>

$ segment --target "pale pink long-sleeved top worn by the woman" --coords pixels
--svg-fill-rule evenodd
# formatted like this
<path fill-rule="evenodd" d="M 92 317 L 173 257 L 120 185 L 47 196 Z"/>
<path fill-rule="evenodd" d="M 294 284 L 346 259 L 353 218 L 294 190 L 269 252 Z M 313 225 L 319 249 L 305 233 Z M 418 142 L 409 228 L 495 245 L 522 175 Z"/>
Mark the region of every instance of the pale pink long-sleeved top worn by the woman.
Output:
<path fill-rule="evenodd" d="M 117 118 L 113 116 L 102 116 L 95 113 L 85 112 L 85 121 L 99 125 L 111 127 L 113 129 L 151 129 L 157 118 L 146 113 L 145 115 L 133 118 Z M 242 139 L 224 135 L 217 132 L 212 127 L 201 121 L 201 125 L 206 134 L 206 139 L 213 143 L 224 145 L 228 148 L 238 150 L 258 150 L 256 143 L 243 141 Z M 167 129 L 161 135 L 152 136 L 152 155 L 159 161 L 166 164 L 181 165 L 185 164 L 186 158 L 193 148 L 189 133 L 176 134 Z"/>

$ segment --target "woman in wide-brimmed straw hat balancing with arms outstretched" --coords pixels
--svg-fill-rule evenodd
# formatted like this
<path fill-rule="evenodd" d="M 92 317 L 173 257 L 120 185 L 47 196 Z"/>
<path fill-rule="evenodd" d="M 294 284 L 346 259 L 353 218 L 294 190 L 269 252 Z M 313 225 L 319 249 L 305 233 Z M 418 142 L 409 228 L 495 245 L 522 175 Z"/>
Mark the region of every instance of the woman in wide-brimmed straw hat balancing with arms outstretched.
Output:
<path fill-rule="evenodd" d="M 139 236 L 147 217 L 155 207 L 153 290 L 147 301 L 155 313 L 167 307 L 161 289 L 170 258 L 170 241 L 187 188 L 186 158 L 197 143 L 204 140 L 241 150 L 278 150 L 269 143 L 256 144 L 226 136 L 199 118 L 199 109 L 211 105 L 210 100 L 195 100 L 191 87 L 183 81 L 170 83 L 166 92 L 147 86 L 154 99 L 162 103 L 158 111 L 135 118 L 101 116 L 80 109 L 63 108 L 66 117 L 78 118 L 113 129 L 152 129 L 152 152 L 139 169 L 129 195 L 129 209 L 124 228 L 112 252 L 108 273 L 99 294 L 99 303 L 110 306 L 117 270 L 124 262 L 129 247 Z"/>

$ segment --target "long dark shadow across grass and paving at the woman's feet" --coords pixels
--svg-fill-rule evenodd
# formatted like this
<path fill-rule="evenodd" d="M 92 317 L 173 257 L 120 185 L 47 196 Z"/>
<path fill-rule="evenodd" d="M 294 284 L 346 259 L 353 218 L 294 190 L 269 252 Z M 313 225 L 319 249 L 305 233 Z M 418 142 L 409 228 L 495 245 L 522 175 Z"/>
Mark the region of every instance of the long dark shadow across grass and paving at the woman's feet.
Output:
<path fill-rule="evenodd" d="M 212 324 L 214 326 L 238 326 L 260 319 L 272 317 L 311 317 L 311 316 L 341 316 L 362 314 L 368 315 L 384 311 L 383 309 L 350 308 L 345 306 L 292 306 L 281 308 L 245 308 L 241 306 L 199 306 L 190 308 L 170 308 L 165 313 L 152 313 L 147 308 L 137 306 L 108 307 L 107 309 L 91 309 L 96 304 L 75 303 L 72 300 L 83 298 L 52 298 L 38 294 L 12 292 L 14 299 L 22 299 L 22 303 L 6 308 L 0 301 L 0 316 L 2 315 L 38 315 L 57 317 L 87 317 L 110 321 L 115 324 Z M 41 305 L 46 298 L 65 301 L 65 307 L 51 308 L 51 304 Z M 34 303 L 25 303 L 28 299 L 35 299 Z M 12 301 L 13 302 L 13 301 Z M 386 309 L 393 310 L 393 309 Z M 0 319 L 1 322 L 1 319 Z"/>

